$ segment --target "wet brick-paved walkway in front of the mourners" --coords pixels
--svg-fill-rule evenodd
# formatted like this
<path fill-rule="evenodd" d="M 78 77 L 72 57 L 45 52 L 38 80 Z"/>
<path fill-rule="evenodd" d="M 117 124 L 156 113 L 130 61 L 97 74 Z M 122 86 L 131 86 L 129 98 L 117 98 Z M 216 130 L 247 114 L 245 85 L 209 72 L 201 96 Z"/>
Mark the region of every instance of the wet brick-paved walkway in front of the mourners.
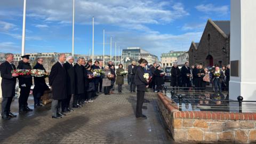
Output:
<path fill-rule="evenodd" d="M 146 93 L 148 119 L 136 119 L 136 93 L 104 95 L 62 119 L 51 118 L 51 105 L 0 120 L 0 143 L 173 143 L 159 118 L 157 95 Z M 33 108 L 33 97 L 29 100 Z M 17 99 L 12 111 L 18 111 Z M 16 113 L 17 114 L 17 113 Z"/>

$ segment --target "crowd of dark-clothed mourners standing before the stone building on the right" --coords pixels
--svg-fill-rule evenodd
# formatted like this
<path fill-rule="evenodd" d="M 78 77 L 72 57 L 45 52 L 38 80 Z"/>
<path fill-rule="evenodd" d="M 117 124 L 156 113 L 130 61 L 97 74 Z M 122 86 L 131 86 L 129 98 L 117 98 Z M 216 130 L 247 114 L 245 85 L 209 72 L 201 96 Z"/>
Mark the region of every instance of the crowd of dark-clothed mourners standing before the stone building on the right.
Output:
<path fill-rule="evenodd" d="M 206 84 L 212 84 L 215 93 L 221 93 L 229 89 L 230 65 L 222 66 L 218 64 L 213 67 L 206 68 L 202 64 L 196 64 L 189 67 L 189 62 L 186 62 L 181 69 L 177 63 L 174 63 L 171 69 L 171 86 L 173 89 L 181 87 L 184 90 L 189 90 L 190 87 L 195 87 L 195 90 L 204 91 Z"/>

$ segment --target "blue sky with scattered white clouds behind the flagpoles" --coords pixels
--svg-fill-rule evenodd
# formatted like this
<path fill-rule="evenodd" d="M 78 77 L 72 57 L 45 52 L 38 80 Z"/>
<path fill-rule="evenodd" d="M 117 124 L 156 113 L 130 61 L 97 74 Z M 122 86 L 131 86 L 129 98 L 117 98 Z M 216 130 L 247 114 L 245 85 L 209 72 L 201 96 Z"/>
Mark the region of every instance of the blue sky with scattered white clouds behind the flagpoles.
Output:
<path fill-rule="evenodd" d="M 27 0 L 25 53 L 72 52 L 73 0 Z M 75 0 L 75 54 L 141 47 L 161 56 L 188 51 L 208 19 L 230 20 L 229 0 Z M 21 53 L 23 0 L 0 1 L 0 52 Z M 91 50 L 92 52 L 92 50 Z M 92 54 L 92 53 L 91 53 Z"/>

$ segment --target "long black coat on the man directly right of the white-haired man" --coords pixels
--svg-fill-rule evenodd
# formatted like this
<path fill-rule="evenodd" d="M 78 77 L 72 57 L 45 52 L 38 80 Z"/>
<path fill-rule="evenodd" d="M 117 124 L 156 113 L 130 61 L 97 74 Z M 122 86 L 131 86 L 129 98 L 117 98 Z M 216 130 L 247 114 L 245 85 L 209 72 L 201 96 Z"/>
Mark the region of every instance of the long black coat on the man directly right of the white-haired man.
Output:
<path fill-rule="evenodd" d="M 78 63 L 74 66 L 75 69 L 75 94 L 84 93 L 84 66 L 79 66 Z"/>

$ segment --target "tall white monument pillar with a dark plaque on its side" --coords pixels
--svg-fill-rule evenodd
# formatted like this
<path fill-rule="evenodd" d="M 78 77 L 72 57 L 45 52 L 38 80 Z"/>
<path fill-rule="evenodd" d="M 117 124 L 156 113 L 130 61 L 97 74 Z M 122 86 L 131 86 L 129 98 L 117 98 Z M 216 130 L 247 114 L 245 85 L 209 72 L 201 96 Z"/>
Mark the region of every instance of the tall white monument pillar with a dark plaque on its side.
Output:
<path fill-rule="evenodd" d="M 241 95 L 244 100 L 255 101 L 256 1 L 232 0 L 230 2 L 230 61 L 239 61 L 239 75 L 238 77 L 230 75 L 229 98 L 237 100 L 238 95 Z M 234 67 L 231 66 L 230 73 L 232 70 Z"/>

